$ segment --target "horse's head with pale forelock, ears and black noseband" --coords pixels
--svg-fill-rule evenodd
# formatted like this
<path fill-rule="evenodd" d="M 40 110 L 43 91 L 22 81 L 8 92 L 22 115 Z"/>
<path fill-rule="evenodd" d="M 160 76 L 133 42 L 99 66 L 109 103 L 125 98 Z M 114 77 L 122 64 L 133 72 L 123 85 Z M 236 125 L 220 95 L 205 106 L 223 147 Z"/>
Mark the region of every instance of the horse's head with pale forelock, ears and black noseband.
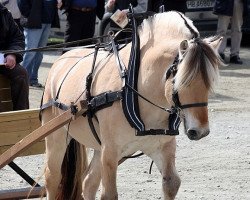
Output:
<path fill-rule="evenodd" d="M 199 140 L 209 134 L 207 102 L 221 64 L 216 53 L 220 42 L 221 38 L 198 38 L 185 40 L 180 45 L 182 61 L 173 79 L 173 93 L 178 96 L 174 95 L 173 101 L 179 98 L 177 107 L 183 113 L 185 132 L 191 140 Z"/>

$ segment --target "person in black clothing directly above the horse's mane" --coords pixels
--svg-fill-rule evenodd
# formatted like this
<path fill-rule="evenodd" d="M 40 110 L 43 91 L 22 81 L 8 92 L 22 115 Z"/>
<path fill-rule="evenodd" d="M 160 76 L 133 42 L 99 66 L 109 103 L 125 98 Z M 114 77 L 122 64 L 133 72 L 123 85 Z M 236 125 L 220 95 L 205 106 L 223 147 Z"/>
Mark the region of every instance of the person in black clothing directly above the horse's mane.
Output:
<path fill-rule="evenodd" d="M 187 10 L 186 0 L 153 0 L 152 9 L 154 12 L 159 12 L 159 8 L 164 5 L 165 11 L 179 11 L 185 13 Z"/>

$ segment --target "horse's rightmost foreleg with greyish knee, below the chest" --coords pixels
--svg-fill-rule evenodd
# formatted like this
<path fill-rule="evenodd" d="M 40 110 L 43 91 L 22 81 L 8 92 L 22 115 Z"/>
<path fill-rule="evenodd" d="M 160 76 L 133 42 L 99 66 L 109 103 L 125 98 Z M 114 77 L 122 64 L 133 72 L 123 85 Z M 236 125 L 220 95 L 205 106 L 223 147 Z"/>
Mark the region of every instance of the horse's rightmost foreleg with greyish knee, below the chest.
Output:
<path fill-rule="evenodd" d="M 160 152 L 152 155 L 152 159 L 162 174 L 162 187 L 165 200 L 173 200 L 178 192 L 181 180 L 175 168 L 175 138 L 163 145 Z"/>

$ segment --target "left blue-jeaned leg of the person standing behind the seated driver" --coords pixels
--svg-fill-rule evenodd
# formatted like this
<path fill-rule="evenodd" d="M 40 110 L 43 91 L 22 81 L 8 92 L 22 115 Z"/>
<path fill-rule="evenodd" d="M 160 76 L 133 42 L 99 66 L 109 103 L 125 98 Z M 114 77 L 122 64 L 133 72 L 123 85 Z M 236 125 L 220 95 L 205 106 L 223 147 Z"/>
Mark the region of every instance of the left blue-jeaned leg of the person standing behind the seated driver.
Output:
<path fill-rule="evenodd" d="M 37 48 L 41 37 L 42 29 L 24 29 L 25 50 Z M 22 66 L 26 68 L 29 79 L 31 79 L 37 52 L 26 52 L 23 57 Z"/>

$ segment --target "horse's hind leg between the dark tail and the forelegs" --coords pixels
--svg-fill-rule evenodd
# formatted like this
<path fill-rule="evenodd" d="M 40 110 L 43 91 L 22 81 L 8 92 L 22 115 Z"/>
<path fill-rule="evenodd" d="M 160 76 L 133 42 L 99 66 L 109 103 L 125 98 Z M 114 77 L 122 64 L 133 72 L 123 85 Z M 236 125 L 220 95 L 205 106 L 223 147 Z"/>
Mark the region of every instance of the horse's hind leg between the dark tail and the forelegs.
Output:
<path fill-rule="evenodd" d="M 101 153 L 95 150 L 91 163 L 84 174 L 82 195 L 84 199 L 95 200 L 101 181 Z"/>

